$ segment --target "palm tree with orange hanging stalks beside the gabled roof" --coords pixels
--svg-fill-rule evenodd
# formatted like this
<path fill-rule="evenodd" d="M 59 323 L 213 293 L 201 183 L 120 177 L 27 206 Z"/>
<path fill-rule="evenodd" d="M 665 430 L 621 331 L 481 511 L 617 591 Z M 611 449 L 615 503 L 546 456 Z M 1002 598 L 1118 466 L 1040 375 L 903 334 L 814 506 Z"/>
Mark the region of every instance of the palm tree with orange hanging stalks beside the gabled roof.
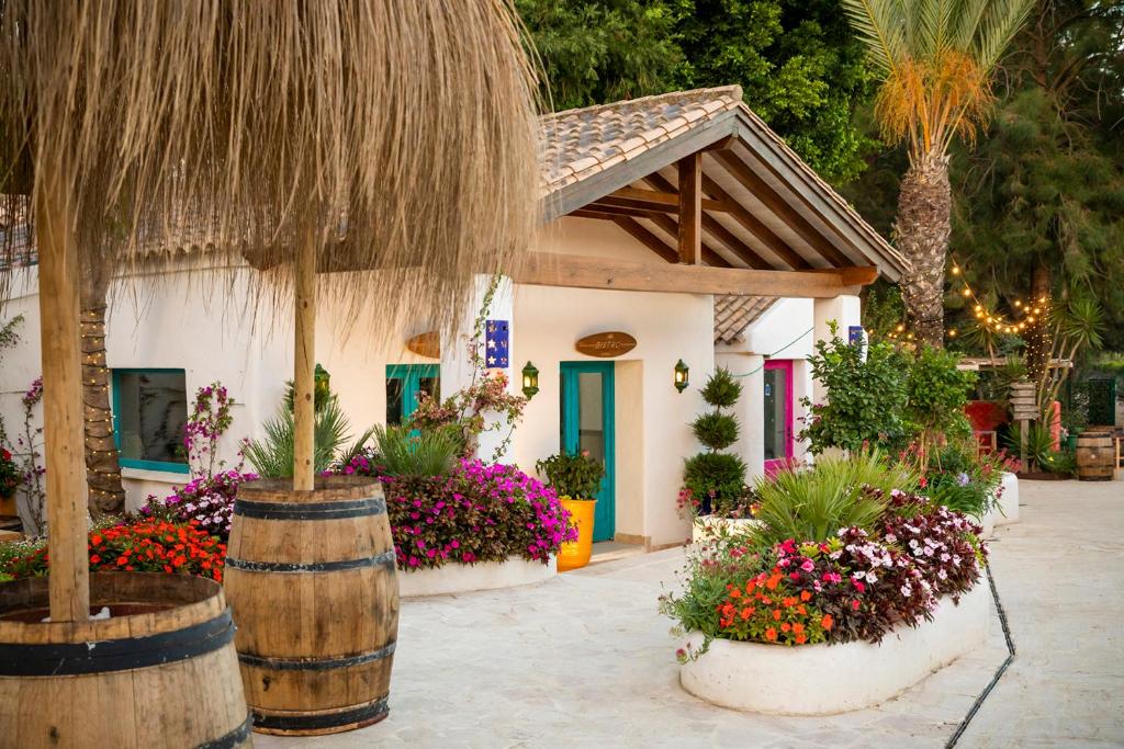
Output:
<path fill-rule="evenodd" d="M 944 342 L 949 153 L 971 144 L 992 103 L 991 73 L 1033 0 L 843 0 L 881 80 L 874 118 L 906 141 L 895 235 L 913 264 L 901 282 L 917 339 Z"/>

